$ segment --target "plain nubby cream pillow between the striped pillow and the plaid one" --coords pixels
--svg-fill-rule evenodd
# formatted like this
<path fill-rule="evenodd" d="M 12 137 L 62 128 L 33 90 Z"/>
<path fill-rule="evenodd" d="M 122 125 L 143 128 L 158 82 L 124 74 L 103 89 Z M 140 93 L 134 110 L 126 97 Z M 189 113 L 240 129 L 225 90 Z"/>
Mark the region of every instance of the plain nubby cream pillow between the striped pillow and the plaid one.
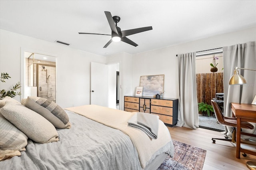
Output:
<path fill-rule="evenodd" d="M 21 104 L 7 101 L 0 113 L 35 142 L 48 143 L 59 140 L 56 128 L 49 121 Z"/>

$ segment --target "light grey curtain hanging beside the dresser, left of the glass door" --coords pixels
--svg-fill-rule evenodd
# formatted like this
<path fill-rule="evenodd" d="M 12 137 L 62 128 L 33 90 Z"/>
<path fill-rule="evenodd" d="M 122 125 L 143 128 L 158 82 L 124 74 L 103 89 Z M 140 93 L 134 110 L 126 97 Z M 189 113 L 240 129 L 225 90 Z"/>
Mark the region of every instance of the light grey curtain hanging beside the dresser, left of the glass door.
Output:
<path fill-rule="evenodd" d="M 198 123 L 198 103 L 196 95 L 196 52 L 181 54 L 179 65 L 180 115 L 179 127 L 196 129 Z"/>

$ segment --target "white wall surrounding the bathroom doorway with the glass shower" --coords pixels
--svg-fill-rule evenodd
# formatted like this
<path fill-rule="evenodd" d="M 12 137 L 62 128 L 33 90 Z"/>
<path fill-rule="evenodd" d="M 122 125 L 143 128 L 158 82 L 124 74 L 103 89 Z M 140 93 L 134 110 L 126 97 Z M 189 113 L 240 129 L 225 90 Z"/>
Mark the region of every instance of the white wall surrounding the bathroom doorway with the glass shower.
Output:
<path fill-rule="evenodd" d="M 10 89 L 21 81 L 21 50 L 32 49 L 57 56 L 56 103 L 61 107 L 90 104 L 90 62 L 105 63 L 106 57 L 0 30 L 0 72 L 11 79 L 0 83 Z M 22 85 L 24 86 L 24 85 Z M 20 96 L 15 98 L 20 101 Z"/>

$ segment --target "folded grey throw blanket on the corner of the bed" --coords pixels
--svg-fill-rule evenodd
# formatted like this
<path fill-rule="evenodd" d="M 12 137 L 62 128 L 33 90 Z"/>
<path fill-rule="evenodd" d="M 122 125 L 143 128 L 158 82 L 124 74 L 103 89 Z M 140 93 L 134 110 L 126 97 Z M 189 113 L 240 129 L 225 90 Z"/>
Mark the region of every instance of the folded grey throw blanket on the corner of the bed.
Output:
<path fill-rule="evenodd" d="M 139 128 L 150 138 L 156 139 L 159 127 L 159 116 L 138 112 L 128 120 L 128 126 Z"/>

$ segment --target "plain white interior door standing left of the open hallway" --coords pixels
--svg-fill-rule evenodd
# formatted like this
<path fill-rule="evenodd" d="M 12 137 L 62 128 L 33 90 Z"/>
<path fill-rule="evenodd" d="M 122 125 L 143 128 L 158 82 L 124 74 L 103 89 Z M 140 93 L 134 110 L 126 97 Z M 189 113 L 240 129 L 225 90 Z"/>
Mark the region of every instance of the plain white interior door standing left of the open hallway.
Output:
<path fill-rule="evenodd" d="M 91 62 L 90 104 L 108 107 L 108 65 Z"/>

